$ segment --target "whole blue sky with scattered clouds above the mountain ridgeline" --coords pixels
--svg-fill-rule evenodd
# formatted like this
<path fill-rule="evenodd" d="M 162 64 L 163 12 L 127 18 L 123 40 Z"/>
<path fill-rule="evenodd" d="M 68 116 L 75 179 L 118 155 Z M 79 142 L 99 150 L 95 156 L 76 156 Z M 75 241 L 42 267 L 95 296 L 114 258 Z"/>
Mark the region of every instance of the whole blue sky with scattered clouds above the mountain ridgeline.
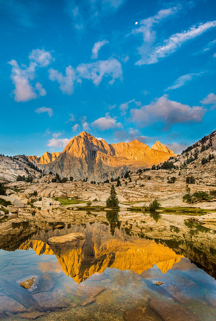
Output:
<path fill-rule="evenodd" d="M 0 153 L 61 152 L 83 130 L 181 152 L 216 128 L 215 1 L 0 0 L 0 9 Z"/>

